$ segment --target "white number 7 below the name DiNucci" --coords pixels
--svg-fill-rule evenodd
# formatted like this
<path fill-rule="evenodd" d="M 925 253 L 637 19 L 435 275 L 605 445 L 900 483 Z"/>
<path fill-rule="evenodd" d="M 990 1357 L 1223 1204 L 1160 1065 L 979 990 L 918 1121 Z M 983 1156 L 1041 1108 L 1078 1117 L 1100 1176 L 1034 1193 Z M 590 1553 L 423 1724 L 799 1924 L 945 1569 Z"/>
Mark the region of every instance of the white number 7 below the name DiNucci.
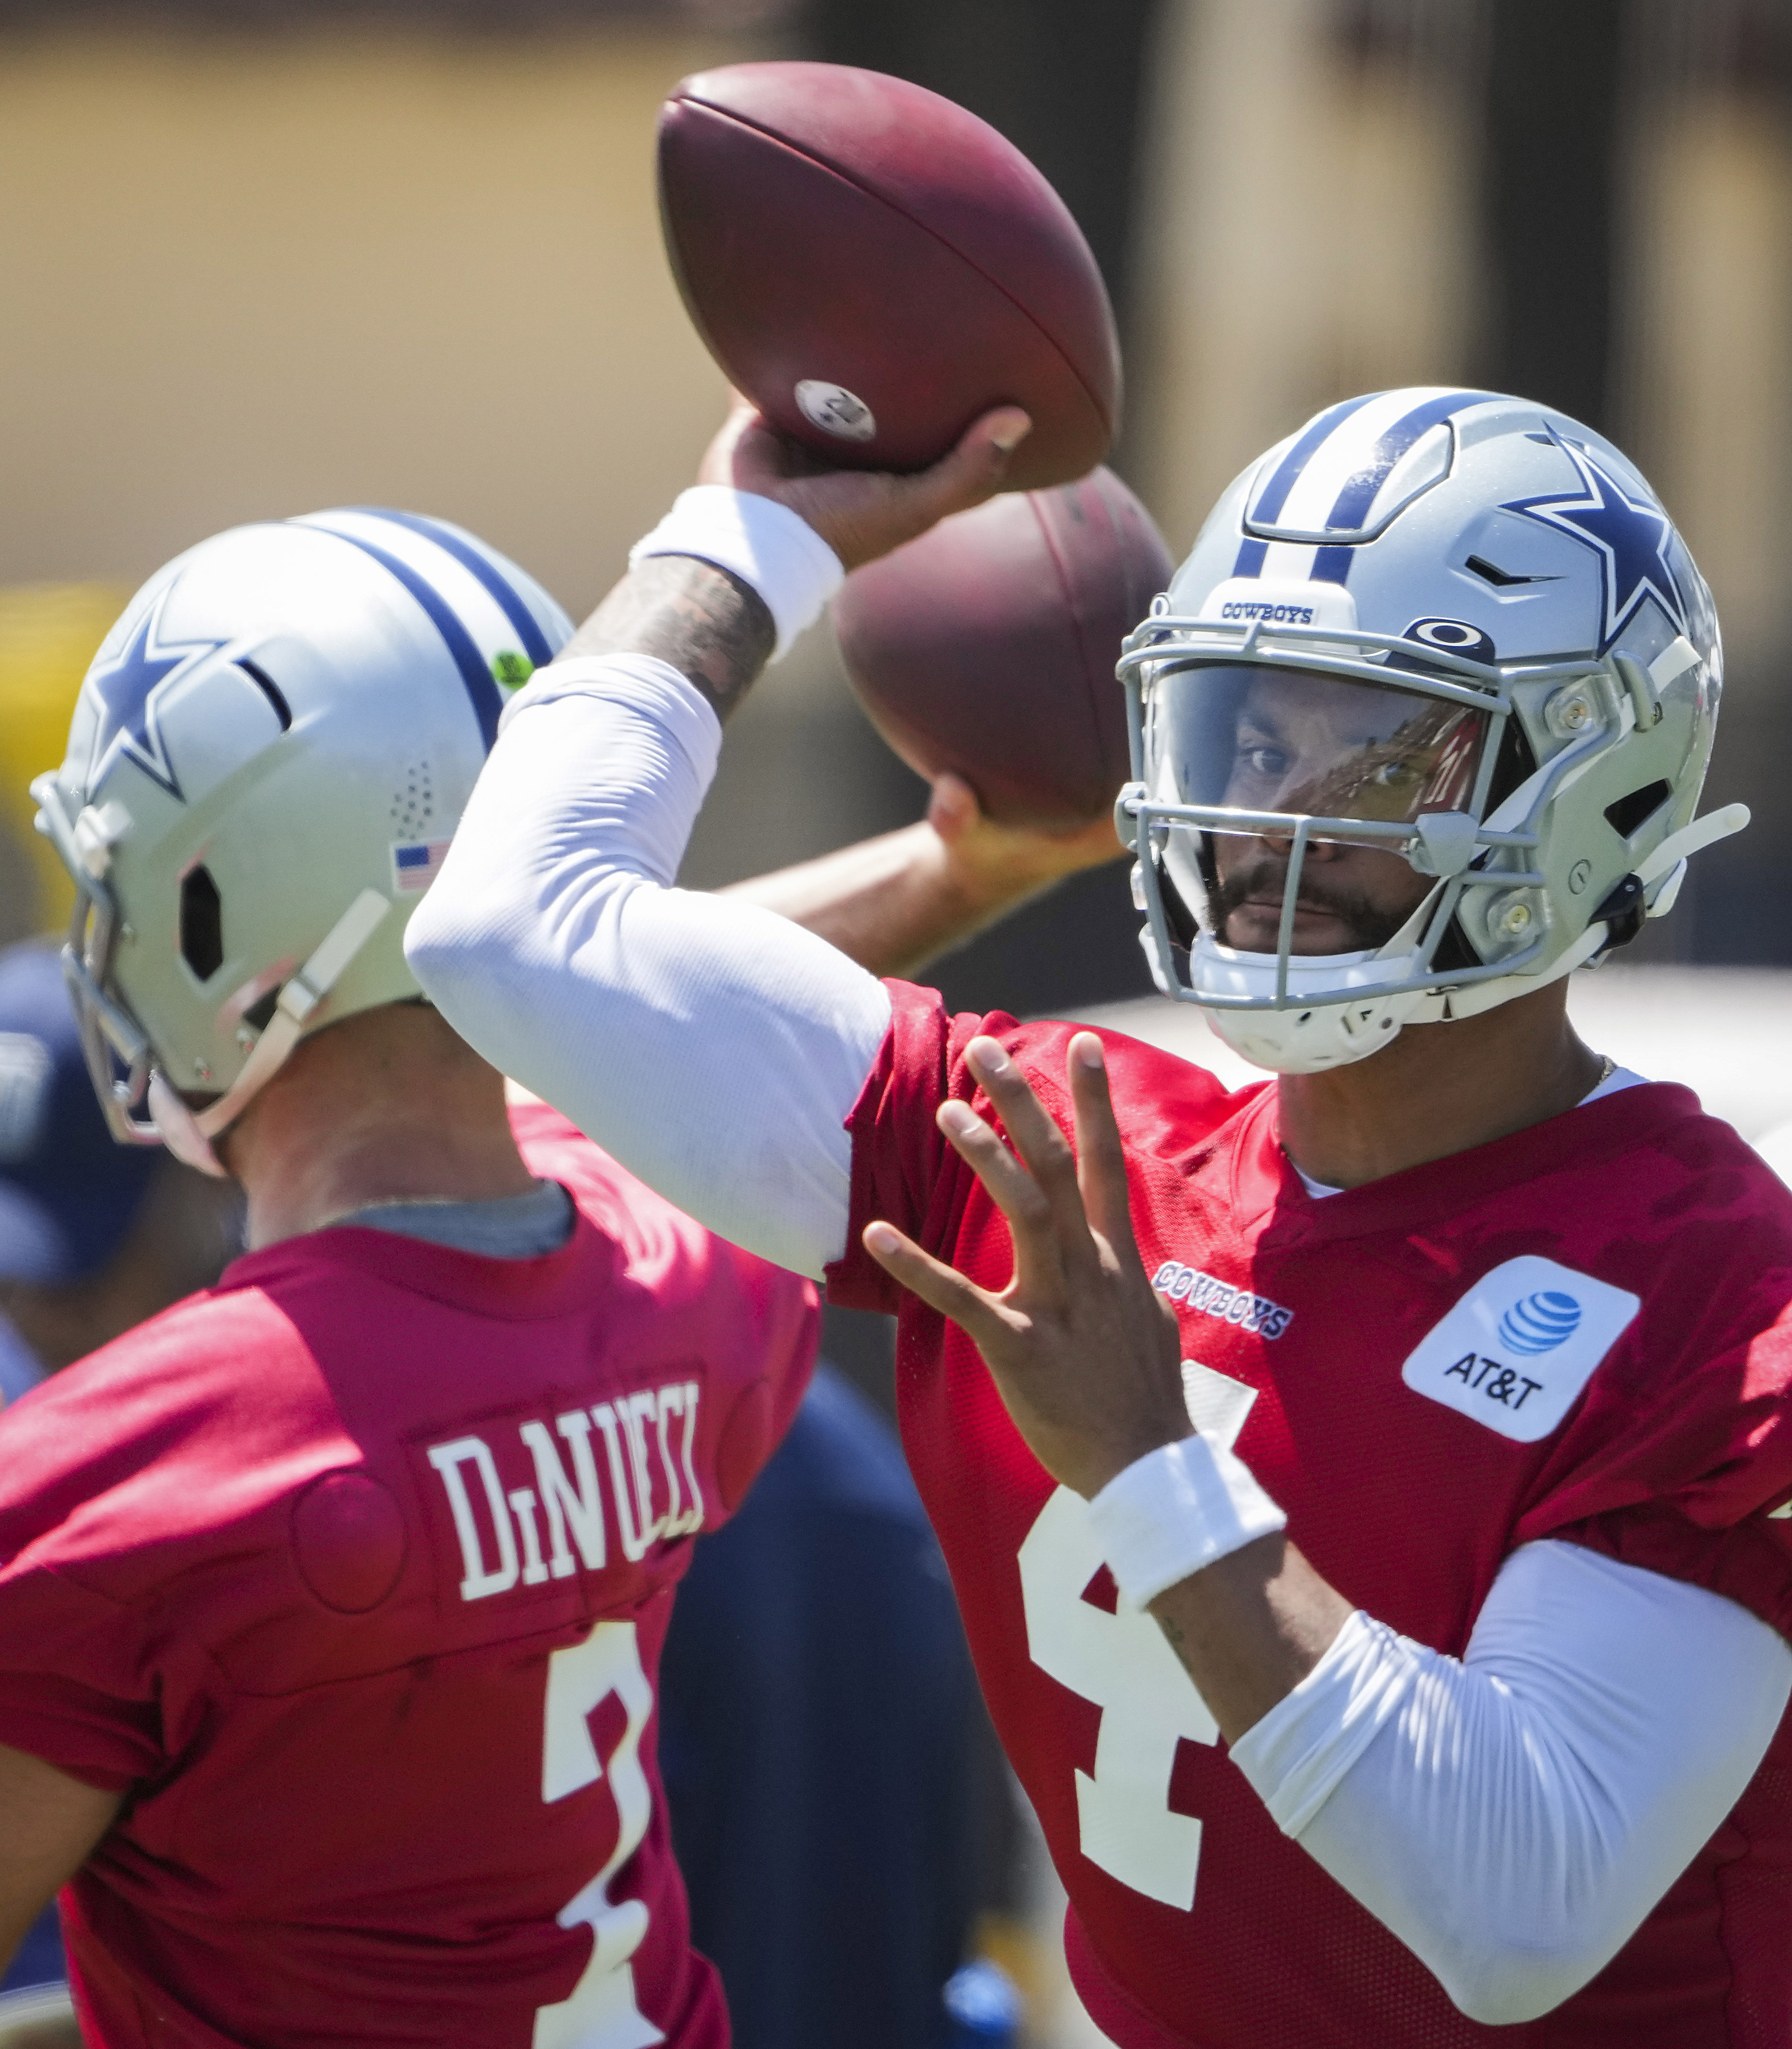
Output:
<path fill-rule="evenodd" d="M 666 2041 L 635 2004 L 629 1961 L 647 1934 L 641 1899 L 610 1901 L 610 1879 L 647 1834 L 653 1793 L 641 1770 L 641 1731 L 653 1713 L 653 1686 L 641 1670 L 633 1623 L 598 1623 L 584 1643 L 555 1651 L 547 1664 L 547 1709 L 541 1733 L 541 1797 L 565 1799 L 604 1776 L 592 1744 L 592 1709 L 614 1695 L 629 1717 L 610 1758 L 616 1803 L 616 1848 L 604 1869 L 561 1908 L 561 1928 L 592 1930 L 592 1961 L 571 1998 L 535 2012 L 535 2049 L 649 2049 Z"/>

